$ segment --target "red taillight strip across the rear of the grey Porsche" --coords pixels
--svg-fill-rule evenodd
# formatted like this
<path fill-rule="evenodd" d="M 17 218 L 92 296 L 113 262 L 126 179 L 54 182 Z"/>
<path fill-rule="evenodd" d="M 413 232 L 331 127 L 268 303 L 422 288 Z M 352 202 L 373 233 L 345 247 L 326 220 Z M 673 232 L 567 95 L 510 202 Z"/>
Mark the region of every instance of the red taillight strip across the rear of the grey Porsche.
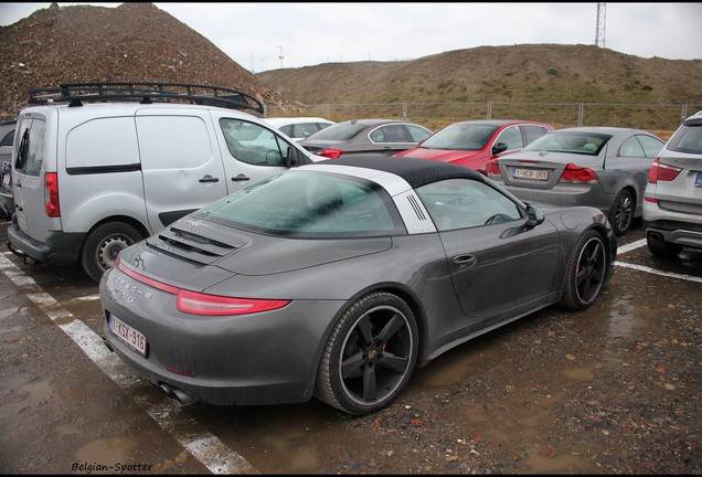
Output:
<path fill-rule="evenodd" d="M 269 300 L 256 298 L 232 298 L 217 295 L 208 295 L 184 290 L 171 285 L 166 285 L 148 278 L 140 273 L 127 268 L 120 261 L 115 261 L 117 268 L 131 278 L 149 285 L 153 288 L 178 295 L 178 309 L 192 315 L 222 316 L 222 315 L 249 315 L 260 311 L 270 311 L 283 308 L 290 300 Z"/>

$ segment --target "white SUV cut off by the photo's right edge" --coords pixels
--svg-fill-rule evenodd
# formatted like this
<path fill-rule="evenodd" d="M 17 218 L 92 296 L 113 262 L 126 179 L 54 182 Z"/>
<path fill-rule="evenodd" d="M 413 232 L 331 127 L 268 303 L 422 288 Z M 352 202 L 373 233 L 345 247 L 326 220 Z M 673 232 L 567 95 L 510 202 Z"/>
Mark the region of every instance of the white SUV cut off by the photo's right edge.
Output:
<path fill-rule="evenodd" d="M 702 250 L 702 110 L 682 123 L 653 161 L 642 223 L 653 255 Z"/>

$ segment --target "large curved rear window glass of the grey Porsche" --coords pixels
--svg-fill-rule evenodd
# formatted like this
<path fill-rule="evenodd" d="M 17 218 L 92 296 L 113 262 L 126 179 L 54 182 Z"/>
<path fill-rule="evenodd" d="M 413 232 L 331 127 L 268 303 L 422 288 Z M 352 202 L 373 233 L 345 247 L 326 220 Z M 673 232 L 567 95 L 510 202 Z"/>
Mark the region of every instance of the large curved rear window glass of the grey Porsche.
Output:
<path fill-rule="evenodd" d="M 200 218 L 274 235 L 382 236 L 405 233 L 390 195 L 373 182 L 289 171 L 201 209 Z"/>

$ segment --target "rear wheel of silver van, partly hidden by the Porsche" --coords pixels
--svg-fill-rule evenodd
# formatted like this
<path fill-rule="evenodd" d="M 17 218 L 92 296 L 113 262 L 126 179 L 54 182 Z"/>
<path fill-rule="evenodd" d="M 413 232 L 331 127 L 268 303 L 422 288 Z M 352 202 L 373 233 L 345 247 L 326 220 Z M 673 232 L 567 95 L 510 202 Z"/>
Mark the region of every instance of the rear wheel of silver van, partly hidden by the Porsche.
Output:
<path fill-rule="evenodd" d="M 95 282 L 99 282 L 105 271 L 113 266 L 119 252 L 141 239 L 137 229 L 123 222 L 106 222 L 98 225 L 88 232 L 85 239 L 81 252 L 83 269 Z"/>

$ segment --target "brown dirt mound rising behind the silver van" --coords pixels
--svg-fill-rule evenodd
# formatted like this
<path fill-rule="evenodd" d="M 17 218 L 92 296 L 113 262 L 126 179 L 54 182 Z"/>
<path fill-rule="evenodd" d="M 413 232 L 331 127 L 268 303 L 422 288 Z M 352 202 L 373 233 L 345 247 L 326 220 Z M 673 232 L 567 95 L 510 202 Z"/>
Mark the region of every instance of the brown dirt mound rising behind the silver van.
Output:
<path fill-rule="evenodd" d="M 242 89 L 267 106 L 286 102 L 212 42 L 152 3 L 39 10 L 0 28 L 0 117 L 28 89 L 74 82 L 179 82 Z"/>

